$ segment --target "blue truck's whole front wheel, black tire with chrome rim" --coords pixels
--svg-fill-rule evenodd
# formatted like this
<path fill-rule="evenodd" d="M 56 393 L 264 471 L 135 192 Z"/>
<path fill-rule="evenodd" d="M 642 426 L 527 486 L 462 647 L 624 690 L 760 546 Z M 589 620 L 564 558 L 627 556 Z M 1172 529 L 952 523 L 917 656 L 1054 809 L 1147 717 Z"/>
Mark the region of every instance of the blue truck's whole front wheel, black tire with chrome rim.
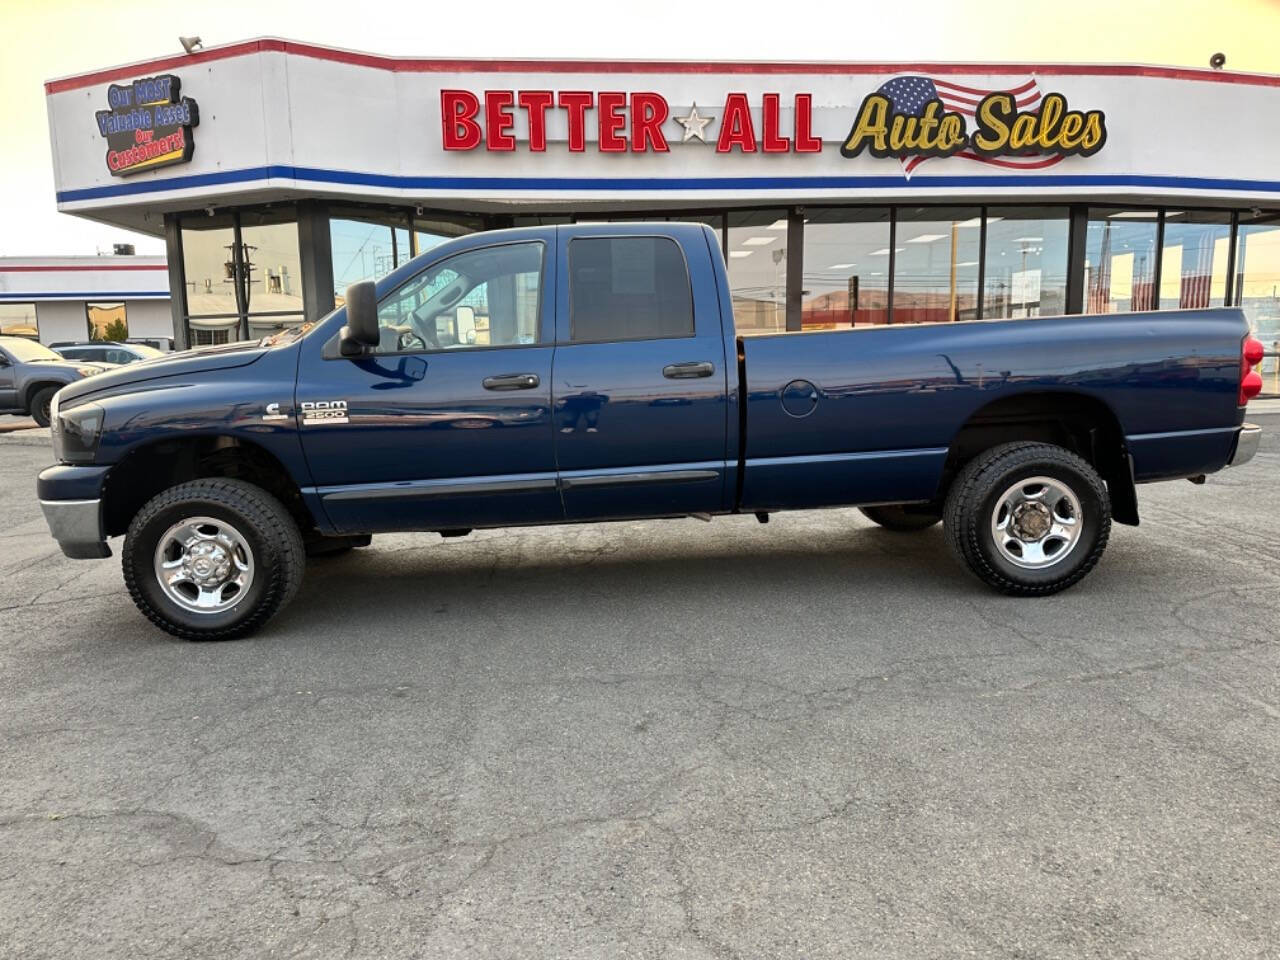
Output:
<path fill-rule="evenodd" d="M 262 626 L 297 593 L 306 566 L 298 525 L 243 480 L 210 477 L 152 497 L 122 552 L 142 614 L 186 640 L 230 640 Z"/>

